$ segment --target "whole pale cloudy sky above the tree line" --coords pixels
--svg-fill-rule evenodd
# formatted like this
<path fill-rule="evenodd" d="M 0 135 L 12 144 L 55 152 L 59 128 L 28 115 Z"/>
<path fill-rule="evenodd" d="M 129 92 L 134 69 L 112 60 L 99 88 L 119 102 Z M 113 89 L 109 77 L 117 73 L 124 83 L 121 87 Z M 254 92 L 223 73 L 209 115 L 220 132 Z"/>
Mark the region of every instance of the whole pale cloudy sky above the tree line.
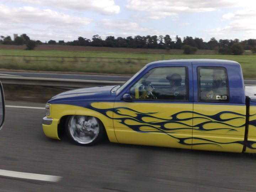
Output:
<path fill-rule="evenodd" d="M 256 0 L 0 0 L 0 35 L 256 39 Z"/>

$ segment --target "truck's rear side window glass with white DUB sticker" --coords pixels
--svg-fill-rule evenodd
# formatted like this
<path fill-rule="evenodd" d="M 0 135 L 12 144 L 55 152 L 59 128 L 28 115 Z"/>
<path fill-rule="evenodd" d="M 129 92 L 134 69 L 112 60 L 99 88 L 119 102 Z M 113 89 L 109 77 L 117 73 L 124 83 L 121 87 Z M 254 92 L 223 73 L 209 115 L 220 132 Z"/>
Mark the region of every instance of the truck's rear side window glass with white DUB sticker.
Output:
<path fill-rule="evenodd" d="M 209 102 L 228 102 L 229 87 L 223 67 L 198 67 L 198 99 Z"/>

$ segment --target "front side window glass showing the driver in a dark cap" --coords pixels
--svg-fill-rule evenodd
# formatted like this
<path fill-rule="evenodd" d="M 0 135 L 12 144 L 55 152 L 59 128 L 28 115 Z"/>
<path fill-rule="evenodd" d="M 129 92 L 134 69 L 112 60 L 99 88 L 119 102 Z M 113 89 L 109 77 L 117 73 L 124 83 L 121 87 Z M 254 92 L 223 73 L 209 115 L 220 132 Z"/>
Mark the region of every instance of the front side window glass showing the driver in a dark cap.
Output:
<path fill-rule="evenodd" d="M 187 68 L 159 67 L 146 73 L 130 88 L 135 100 L 187 100 Z"/>

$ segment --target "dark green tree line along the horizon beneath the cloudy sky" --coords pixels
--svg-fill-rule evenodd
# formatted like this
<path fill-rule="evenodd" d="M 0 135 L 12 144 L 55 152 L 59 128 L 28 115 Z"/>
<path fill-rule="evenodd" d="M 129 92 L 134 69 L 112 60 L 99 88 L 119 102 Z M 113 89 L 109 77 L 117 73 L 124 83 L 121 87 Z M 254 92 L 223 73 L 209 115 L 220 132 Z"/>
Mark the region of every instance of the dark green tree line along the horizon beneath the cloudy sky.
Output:
<path fill-rule="evenodd" d="M 239 41 L 239 39 L 220 39 L 217 41 L 214 37 L 210 41 L 205 42 L 202 38 L 198 37 L 181 37 L 176 36 L 175 39 L 171 39 L 169 35 L 165 36 L 129 36 L 126 38 L 114 36 L 108 36 L 103 40 L 98 34 L 94 35 L 92 39 L 87 39 L 84 37 L 78 37 L 74 41 L 64 42 L 60 40 L 56 42 L 55 40 L 50 40 L 48 42 L 42 43 L 41 41 L 32 41 L 30 37 L 26 34 L 17 36 L 14 41 L 12 41 L 10 36 L 4 37 L 0 36 L 1 44 L 15 44 L 15 45 L 27 45 L 27 49 L 35 47 L 37 44 L 61 44 L 61 45 L 71 45 L 71 46 L 95 46 L 95 47 L 120 47 L 120 48 L 149 48 L 149 49 L 183 49 L 185 54 L 193 54 L 197 49 L 207 49 L 207 50 L 218 50 L 220 54 L 236 54 L 240 55 L 244 50 L 251 50 L 256 53 L 256 39 L 247 39 L 244 41 Z M 33 49 L 33 48 L 32 48 Z"/>

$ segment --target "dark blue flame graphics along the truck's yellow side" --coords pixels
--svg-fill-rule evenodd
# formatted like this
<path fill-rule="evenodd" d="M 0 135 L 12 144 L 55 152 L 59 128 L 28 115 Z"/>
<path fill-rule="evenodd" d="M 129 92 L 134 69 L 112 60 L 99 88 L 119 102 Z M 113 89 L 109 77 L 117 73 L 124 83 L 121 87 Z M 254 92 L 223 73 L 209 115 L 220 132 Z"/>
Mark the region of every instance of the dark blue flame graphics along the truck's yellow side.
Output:
<path fill-rule="evenodd" d="M 188 130 L 191 130 L 191 129 L 193 130 L 194 129 L 194 130 L 200 130 L 200 131 L 227 130 L 227 132 L 238 131 L 235 128 L 244 127 L 245 124 L 242 124 L 241 126 L 231 126 L 230 124 L 225 123 L 225 122 L 230 121 L 230 120 L 234 120 L 234 119 L 245 119 L 245 115 L 240 114 L 240 113 L 236 113 L 236 112 L 232 112 L 232 111 L 223 111 L 223 112 L 219 112 L 219 113 L 214 114 L 214 115 L 205 115 L 205 114 L 201 114 L 201 113 L 198 113 L 198 112 L 192 112 L 192 111 L 181 111 L 181 112 L 170 115 L 170 119 L 165 119 L 165 118 L 155 117 L 154 114 L 156 114 L 158 112 L 143 113 L 143 112 L 139 112 L 139 111 L 127 108 L 127 107 L 116 107 L 116 108 L 100 109 L 100 108 L 95 108 L 95 107 L 90 106 L 90 108 L 92 110 L 95 110 L 95 111 L 98 111 L 98 112 L 104 114 L 106 117 L 108 117 L 110 119 L 118 121 L 119 123 L 131 128 L 132 130 L 134 130 L 136 132 L 140 132 L 140 133 L 164 133 L 164 134 L 169 135 L 172 138 L 177 139 L 178 140 L 177 142 L 180 143 L 180 144 L 183 144 L 183 145 L 206 145 L 206 144 L 208 145 L 208 144 L 213 144 L 213 145 L 217 145 L 219 147 L 222 147 L 220 144 L 232 144 L 232 143 L 238 143 L 238 144 L 242 144 L 242 145 L 244 144 L 243 140 L 242 141 L 224 143 L 224 142 L 217 142 L 217 141 L 204 139 L 204 138 L 198 138 L 198 137 L 178 138 L 178 137 L 175 137 L 174 135 L 172 135 L 173 133 L 176 133 L 175 130 L 181 130 L 181 129 L 188 129 Z M 129 114 L 122 114 L 121 110 L 128 110 L 131 113 L 134 113 L 135 117 L 132 116 L 132 115 L 129 115 Z M 107 112 L 113 112 L 113 113 L 115 113 L 115 114 L 117 114 L 118 116 L 121 116 L 121 117 L 117 117 L 117 118 L 110 117 L 110 116 L 107 115 Z M 179 114 L 184 114 L 184 113 L 197 114 L 197 115 L 200 115 L 202 117 L 189 117 L 189 118 L 182 118 L 182 119 L 177 117 Z M 234 117 L 234 118 L 228 118 L 228 119 L 220 118 L 220 116 L 222 114 L 225 114 L 225 113 L 235 114 L 235 115 L 238 115 L 238 116 L 241 116 L 241 117 Z M 145 122 L 145 121 L 143 121 L 143 118 L 145 118 L 145 117 L 154 118 L 154 119 L 159 120 L 160 122 L 156 122 L 156 121 Z M 191 120 L 191 119 L 207 119 L 208 121 L 196 124 L 196 125 L 194 125 L 194 128 L 193 128 L 193 126 L 182 122 L 182 121 L 188 121 L 188 120 Z M 127 124 L 126 123 L 127 120 L 136 122 L 137 124 L 136 123 L 134 125 Z M 256 123 L 256 120 L 254 120 L 252 122 Z M 186 126 L 186 127 L 166 128 L 165 125 L 168 124 L 168 123 L 178 123 L 178 124 L 181 124 L 181 125 Z M 213 128 L 213 129 L 203 128 L 203 126 L 208 124 L 208 123 L 219 123 L 219 124 L 229 126 L 229 127 L 233 127 L 233 128 Z M 141 130 L 140 129 L 141 127 L 150 127 L 153 130 Z M 197 140 L 201 140 L 201 141 L 204 141 L 204 142 L 203 143 L 192 143 L 192 144 L 191 143 L 186 143 L 186 141 L 190 140 L 190 139 L 197 139 Z M 256 142 L 252 142 L 252 141 L 248 142 L 247 147 L 249 147 L 251 149 L 256 149 L 256 148 L 252 147 L 252 145 L 254 143 L 256 143 Z"/>

